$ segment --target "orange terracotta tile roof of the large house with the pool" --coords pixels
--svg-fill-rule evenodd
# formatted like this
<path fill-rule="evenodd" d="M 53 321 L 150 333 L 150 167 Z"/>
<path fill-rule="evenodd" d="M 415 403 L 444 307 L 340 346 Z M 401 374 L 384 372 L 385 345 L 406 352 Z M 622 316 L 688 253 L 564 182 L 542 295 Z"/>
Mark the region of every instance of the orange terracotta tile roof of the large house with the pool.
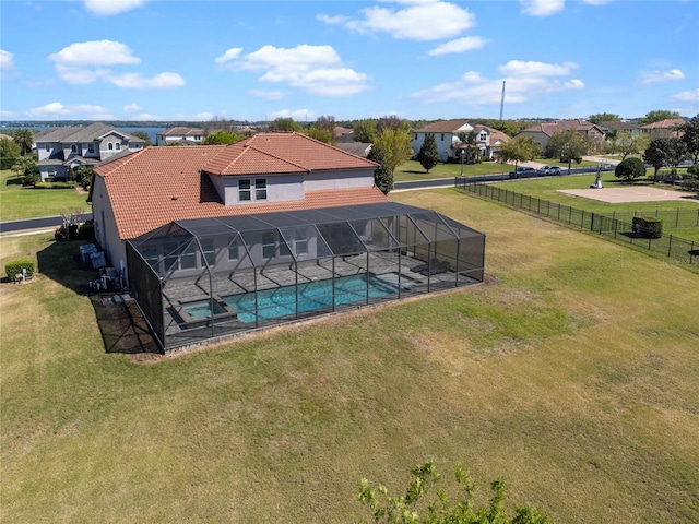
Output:
<path fill-rule="evenodd" d="M 283 152 L 284 156 L 306 162 L 312 169 L 337 167 L 342 169 L 350 166 L 366 168 L 376 165 L 312 139 L 295 135 L 296 133 L 285 134 L 286 136 L 280 140 L 281 144 L 272 144 L 271 142 L 274 142 L 272 140 L 271 142 L 261 142 L 261 146 L 274 152 L 286 146 L 288 150 Z M 254 141 L 254 139 L 249 139 L 249 141 Z M 237 144 L 147 147 L 96 167 L 95 176 L 102 177 L 107 188 L 119 237 L 132 239 L 178 219 L 311 210 L 388 201 L 378 188 L 370 187 L 307 191 L 305 200 L 300 201 L 224 205 L 209 175 L 201 172 L 204 166 L 216 165 L 221 159 L 238 158 L 234 152 L 240 153 L 242 158 L 247 158 L 246 155 L 251 153 L 249 158 L 264 160 L 263 164 L 256 166 L 247 164 L 247 160 L 240 162 L 239 165 L 253 168 L 251 172 L 254 174 L 270 172 L 265 171 L 268 166 L 274 167 L 279 165 L 277 163 L 285 162 L 271 153 L 264 154 L 256 147 L 248 146 L 247 150 L 250 151 L 242 152 L 240 146 L 233 147 L 235 145 Z M 254 145 L 260 147 L 260 143 Z M 297 146 L 300 146 L 300 152 L 294 151 L 294 147 Z M 339 166 L 330 165 L 333 158 Z M 216 162 L 213 162 L 214 159 Z M 233 165 L 238 165 L 238 162 L 234 162 Z M 295 163 L 287 162 L 285 165 L 295 165 Z M 91 191 L 90 201 L 98 198 L 99 195 Z"/>

